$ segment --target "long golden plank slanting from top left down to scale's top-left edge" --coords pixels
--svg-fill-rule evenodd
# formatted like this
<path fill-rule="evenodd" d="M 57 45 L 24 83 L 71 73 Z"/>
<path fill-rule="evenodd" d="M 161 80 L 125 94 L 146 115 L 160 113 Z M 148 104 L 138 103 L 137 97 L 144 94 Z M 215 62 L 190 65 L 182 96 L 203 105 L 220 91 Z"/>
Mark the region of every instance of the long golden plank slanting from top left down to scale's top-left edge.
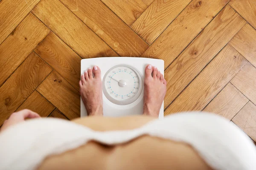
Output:
<path fill-rule="evenodd" d="M 118 56 L 59 0 L 41 0 L 32 13 L 80 57 Z"/>

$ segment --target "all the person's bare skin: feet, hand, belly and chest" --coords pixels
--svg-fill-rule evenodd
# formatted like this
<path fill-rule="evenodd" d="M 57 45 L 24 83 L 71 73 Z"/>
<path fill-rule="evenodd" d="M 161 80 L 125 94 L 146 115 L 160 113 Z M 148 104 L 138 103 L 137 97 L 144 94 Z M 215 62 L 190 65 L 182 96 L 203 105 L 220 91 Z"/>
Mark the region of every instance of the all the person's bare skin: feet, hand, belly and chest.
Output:
<path fill-rule="evenodd" d="M 81 76 L 79 85 L 88 117 L 74 119 L 72 122 L 96 131 L 132 130 L 153 121 L 159 114 L 166 94 L 166 80 L 163 79 L 163 74 L 160 74 L 157 68 L 148 65 L 145 68 L 144 81 L 143 115 L 145 116 L 111 118 L 102 116 L 102 80 L 99 67 L 94 66 L 93 69 L 85 71 Z M 37 117 L 40 116 L 29 110 L 14 113 L 5 122 L 2 130 L 25 121 L 26 118 Z M 47 156 L 41 162 L 38 170 L 69 170 L 74 168 L 77 170 L 169 170 L 170 168 L 176 170 L 211 170 L 188 144 L 148 135 L 111 146 L 89 141 L 76 149 Z"/>

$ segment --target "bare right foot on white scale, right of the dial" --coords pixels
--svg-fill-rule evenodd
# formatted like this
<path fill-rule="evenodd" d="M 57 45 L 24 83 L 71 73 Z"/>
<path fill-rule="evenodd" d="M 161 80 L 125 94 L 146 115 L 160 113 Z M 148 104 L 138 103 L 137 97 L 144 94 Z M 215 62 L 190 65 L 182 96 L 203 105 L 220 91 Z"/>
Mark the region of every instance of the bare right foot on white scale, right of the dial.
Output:
<path fill-rule="evenodd" d="M 153 77 L 152 77 L 153 72 Z M 166 95 L 166 80 L 156 67 L 145 68 L 143 114 L 158 117 Z"/>

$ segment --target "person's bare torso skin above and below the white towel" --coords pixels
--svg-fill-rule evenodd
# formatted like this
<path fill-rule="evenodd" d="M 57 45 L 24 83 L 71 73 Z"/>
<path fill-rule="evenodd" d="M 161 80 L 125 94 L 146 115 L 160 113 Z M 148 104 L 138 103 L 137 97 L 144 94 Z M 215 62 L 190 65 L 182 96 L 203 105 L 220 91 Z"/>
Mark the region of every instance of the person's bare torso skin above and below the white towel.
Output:
<path fill-rule="evenodd" d="M 156 119 L 154 116 L 73 119 L 96 131 L 133 130 Z M 38 170 L 211 170 L 188 144 L 152 136 L 140 136 L 115 145 L 90 141 L 74 150 L 47 157 Z"/>

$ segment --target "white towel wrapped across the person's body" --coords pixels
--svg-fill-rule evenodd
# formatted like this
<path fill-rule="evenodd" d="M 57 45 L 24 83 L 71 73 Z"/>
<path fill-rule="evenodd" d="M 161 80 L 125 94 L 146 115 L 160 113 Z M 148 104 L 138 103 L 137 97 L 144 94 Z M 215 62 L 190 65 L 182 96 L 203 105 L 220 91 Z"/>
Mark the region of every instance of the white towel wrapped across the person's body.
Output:
<path fill-rule="evenodd" d="M 190 144 L 216 170 L 256 168 L 256 147 L 239 127 L 212 113 L 190 112 L 172 114 L 134 130 L 107 132 L 61 119 L 28 120 L 0 133 L 0 170 L 32 170 L 47 156 L 90 140 L 113 145 L 145 134 Z"/>

